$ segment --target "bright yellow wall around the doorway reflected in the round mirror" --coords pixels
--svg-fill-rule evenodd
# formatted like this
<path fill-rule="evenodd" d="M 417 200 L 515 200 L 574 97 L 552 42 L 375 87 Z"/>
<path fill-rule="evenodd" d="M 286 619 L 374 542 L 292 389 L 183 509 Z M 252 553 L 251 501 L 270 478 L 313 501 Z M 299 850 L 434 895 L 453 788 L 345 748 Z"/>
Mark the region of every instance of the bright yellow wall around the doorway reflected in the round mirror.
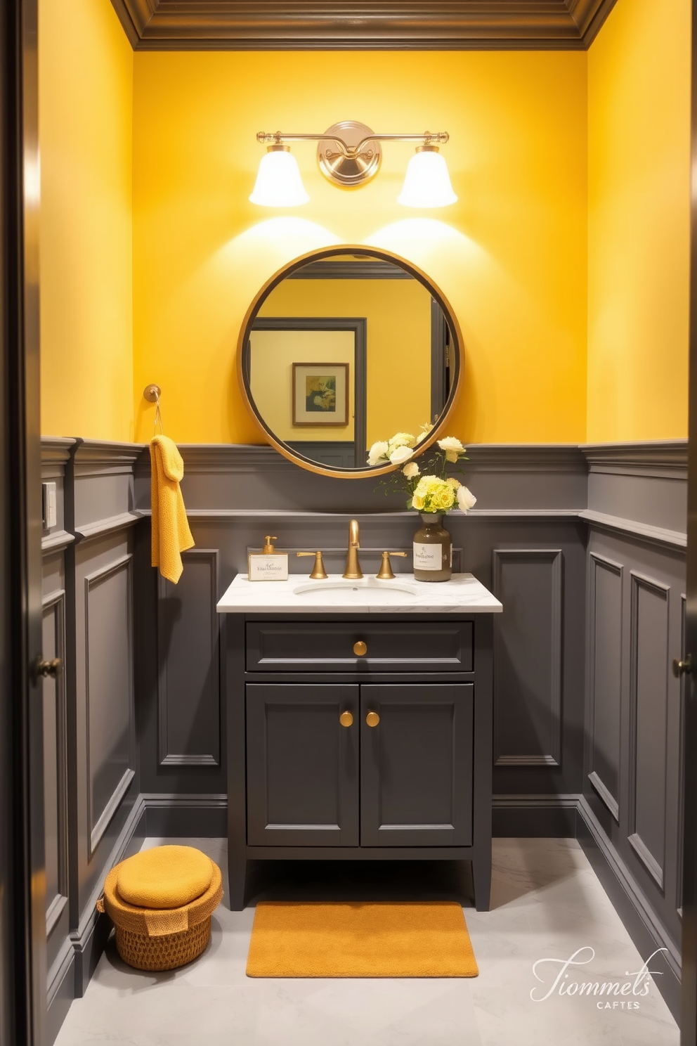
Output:
<path fill-rule="evenodd" d="M 395 432 L 418 433 L 433 420 L 431 295 L 418 280 L 283 280 L 269 295 L 259 316 L 359 316 L 367 320 L 368 447 Z"/>

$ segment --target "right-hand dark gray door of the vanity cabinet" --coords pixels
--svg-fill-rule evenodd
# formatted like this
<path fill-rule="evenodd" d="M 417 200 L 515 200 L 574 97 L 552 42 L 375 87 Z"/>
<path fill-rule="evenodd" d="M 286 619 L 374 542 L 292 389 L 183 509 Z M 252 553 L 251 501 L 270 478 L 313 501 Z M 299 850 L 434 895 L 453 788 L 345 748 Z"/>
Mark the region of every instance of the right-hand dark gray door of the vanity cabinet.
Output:
<path fill-rule="evenodd" d="M 362 846 L 471 845 L 473 691 L 361 687 Z"/>

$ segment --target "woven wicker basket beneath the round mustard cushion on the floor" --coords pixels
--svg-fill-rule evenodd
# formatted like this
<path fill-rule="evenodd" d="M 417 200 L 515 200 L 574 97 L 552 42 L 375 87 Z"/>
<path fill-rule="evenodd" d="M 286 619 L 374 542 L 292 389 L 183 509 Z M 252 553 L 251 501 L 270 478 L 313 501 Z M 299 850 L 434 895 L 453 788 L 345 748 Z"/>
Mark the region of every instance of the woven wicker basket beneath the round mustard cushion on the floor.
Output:
<path fill-rule="evenodd" d="M 136 908 L 118 895 L 119 865 L 107 876 L 97 909 L 107 912 L 116 927 L 116 949 L 136 970 L 177 970 L 205 950 L 210 938 L 210 917 L 223 897 L 220 869 L 211 861 L 213 878 L 208 889 L 181 908 Z"/>

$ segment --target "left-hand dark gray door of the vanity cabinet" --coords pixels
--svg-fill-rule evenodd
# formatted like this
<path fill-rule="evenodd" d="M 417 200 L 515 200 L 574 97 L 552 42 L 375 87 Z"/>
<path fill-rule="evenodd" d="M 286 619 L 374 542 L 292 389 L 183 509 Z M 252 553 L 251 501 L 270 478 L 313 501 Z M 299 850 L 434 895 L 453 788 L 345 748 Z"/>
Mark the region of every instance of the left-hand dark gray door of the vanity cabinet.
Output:
<path fill-rule="evenodd" d="M 248 683 L 251 846 L 358 845 L 358 726 L 357 686 Z"/>

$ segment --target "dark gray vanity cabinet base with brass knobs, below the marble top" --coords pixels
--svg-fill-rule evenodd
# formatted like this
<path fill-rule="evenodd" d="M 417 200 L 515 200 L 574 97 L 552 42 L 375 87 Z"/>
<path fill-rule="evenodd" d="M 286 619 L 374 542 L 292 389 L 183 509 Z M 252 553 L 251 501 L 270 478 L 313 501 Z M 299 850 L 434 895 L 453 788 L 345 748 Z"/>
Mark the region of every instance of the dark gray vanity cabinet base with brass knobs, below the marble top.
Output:
<path fill-rule="evenodd" d="M 228 614 L 230 907 L 251 860 L 491 879 L 491 615 Z"/>

